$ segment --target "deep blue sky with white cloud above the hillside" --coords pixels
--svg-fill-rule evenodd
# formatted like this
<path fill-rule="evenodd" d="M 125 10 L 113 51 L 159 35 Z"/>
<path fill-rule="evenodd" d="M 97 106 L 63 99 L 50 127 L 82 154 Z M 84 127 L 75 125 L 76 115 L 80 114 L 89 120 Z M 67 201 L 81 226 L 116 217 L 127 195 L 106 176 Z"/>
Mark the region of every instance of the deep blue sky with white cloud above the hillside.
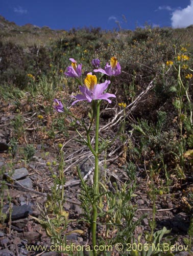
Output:
<path fill-rule="evenodd" d="M 193 0 L 1 0 L 0 15 L 17 25 L 51 29 L 82 27 L 135 29 L 145 23 L 160 27 L 193 24 Z M 123 16 L 124 15 L 124 16 Z"/>

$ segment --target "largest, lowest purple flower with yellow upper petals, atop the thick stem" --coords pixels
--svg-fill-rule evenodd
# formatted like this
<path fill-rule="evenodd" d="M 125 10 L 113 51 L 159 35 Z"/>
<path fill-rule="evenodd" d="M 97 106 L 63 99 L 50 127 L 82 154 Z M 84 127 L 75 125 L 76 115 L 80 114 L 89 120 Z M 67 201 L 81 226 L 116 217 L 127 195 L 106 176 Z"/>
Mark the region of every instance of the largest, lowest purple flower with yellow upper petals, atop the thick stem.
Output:
<path fill-rule="evenodd" d="M 84 85 L 79 86 L 82 94 L 72 96 L 77 99 L 72 103 L 72 105 L 82 100 L 87 100 L 88 102 L 91 102 L 92 100 L 97 99 L 104 99 L 111 103 L 109 97 L 116 98 L 116 96 L 114 94 L 104 93 L 104 91 L 108 88 L 109 84 L 110 81 L 108 80 L 106 80 L 104 83 L 98 84 L 96 76 L 92 75 L 92 73 L 88 73 L 84 80 Z"/>

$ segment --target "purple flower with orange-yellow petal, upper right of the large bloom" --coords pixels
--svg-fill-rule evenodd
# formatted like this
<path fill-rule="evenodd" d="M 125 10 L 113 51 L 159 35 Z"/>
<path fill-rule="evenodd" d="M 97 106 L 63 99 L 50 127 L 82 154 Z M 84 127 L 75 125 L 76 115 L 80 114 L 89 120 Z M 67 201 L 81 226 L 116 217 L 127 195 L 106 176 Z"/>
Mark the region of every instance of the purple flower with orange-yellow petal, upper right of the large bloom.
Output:
<path fill-rule="evenodd" d="M 121 68 L 120 68 L 120 64 L 117 61 L 117 58 L 112 57 L 110 60 L 110 65 L 109 63 L 106 63 L 105 69 L 94 69 L 94 72 L 101 72 L 105 75 L 108 76 L 117 76 L 120 74 Z"/>

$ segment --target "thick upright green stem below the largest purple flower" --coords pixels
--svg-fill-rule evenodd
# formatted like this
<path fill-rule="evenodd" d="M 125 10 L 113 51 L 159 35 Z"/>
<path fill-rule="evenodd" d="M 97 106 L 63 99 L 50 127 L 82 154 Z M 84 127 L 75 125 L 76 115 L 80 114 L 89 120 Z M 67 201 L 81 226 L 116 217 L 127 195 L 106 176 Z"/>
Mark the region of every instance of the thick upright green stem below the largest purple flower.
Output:
<path fill-rule="evenodd" d="M 100 101 L 96 101 L 96 118 L 95 118 L 95 168 L 94 168 L 94 197 L 93 197 L 93 217 L 92 217 L 92 245 L 96 245 L 96 220 L 97 220 L 97 200 L 99 196 L 99 119 L 100 119 Z M 93 250 L 94 256 L 97 255 Z"/>

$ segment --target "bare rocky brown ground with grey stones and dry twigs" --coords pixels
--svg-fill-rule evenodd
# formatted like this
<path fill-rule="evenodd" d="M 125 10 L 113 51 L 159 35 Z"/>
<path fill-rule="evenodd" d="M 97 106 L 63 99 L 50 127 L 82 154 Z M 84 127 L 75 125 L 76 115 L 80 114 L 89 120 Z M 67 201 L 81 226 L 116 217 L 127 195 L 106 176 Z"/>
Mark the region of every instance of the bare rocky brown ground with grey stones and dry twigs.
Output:
<path fill-rule="evenodd" d="M 49 251 L 50 238 L 42 225 L 33 218 L 40 218 L 40 209 L 44 208 L 44 203 L 53 186 L 52 173 L 47 162 L 52 163 L 57 159 L 57 145 L 62 143 L 64 145 L 64 174 L 66 177 L 64 209 L 69 213 L 70 219 L 77 219 L 82 210 L 78 197 L 80 181 L 76 165 L 80 166 L 82 174 L 85 176 L 93 167 L 93 158 L 85 146 L 71 140 L 76 136 L 76 132 L 69 131 L 69 138 L 56 136 L 54 140 L 47 139 L 36 133 L 36 122 L 29 126 L 19 144 L 19 147 L 21 147 L 23 143 L 27 142 L 26 140 L 29 141 L 27 136 L 34 137 L 36 152 L 33 158 L 29 162 L 21 161 L 19 151 L 12 157 L 8 149 L 9 140 L 12 136 L 10 123 L 16 114 L 15 109 L 5 106 L 2 108 L 0 117 L 0 166 L 5 170 L 1 179 L 5 181 L 8 188 L 4 190 L 4 195 L 1 194 L 4 214 L 1 215 L 5 216 L 5 222 L 2 221 L 2 224 L 0 224 L 0 256 L 57 255 L 57 252 Z M 35 118 L 33 113 L 21 114 L 26 118 L 26 122 L 29 125 Z M 115 146 L 115 149 L 116 147 L 118 148 L 118 145 Z M 119 166 L 123 152 L 115 149 L 112 155 L 107 156 L 107 175 L 109 178 L 112 177 L 112 180 L 122 182 L 125 180 L 125 176 L 123 175 L 123 169 Z M 45 154 L 45 152 L 49 152 L 49 154 Z M 57 174 L 57 167 L 58 163 L 52 167 L 55 174 Z M 13 171 L 11 177 L 10 169 Z M 147 195 L 147 177 L 144 172 L 138 169 L 136 176 L 137 188 L 133 204 L 137 205 L 138 210 L 136 211 L 135 219 L 146 214 L 142 218 L 141 225 L 136 229 L 137 236 L 137 234 L 149 230 L 149 219 L 152 217 L 152 202 Z M 183 206 L 179 204 L 183 195 L 183 188 L 188 185 L 188 182 L 191 183 L 191 181 L 186 181 L 180 184 L 179 188 L 173 189 L 172 194 L 160 195 L 156 199 L 156 229 L 161 229 L 164 226 L 167 229 L 172 229 L 171 235 L 178 237 L 179 244 L 183 244 L 183 239 L 188 238 L 189 216 Z M 11 215 L 9 214 L 10 209 Z M 88 239 L 87 226 L 82 225 L 80 227 L 80 225 L 75 225 L 74 227 L 81 228 L 84 231 L 84 235 L 69 234 L 67 240 L 74 241 L 77 244 L 85 244 Z M 47 245 L 48 247 L 47 251 L 28 251 L 26 245 Z M 179 255 L 187 254 L 182 252 Z"/>

